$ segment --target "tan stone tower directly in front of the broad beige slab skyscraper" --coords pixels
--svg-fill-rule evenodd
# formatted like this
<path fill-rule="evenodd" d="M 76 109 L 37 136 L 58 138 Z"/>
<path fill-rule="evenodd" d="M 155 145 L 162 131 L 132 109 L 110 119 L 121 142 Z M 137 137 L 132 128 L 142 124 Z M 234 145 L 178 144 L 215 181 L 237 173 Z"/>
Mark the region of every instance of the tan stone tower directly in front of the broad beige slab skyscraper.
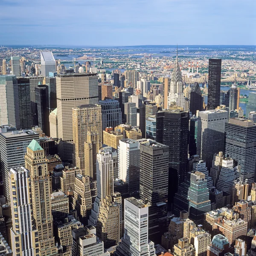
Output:
<path fill-rule="evenodd" d="M 89 132 L 97 137 L 99 143 L 102 142 L 101 107 L 87 104 L 73 108 L 73 163 L 81 170 L 85 169 L 84 143 L 87 142 Z M 96 151 L 99 151 L 99 148 Z"/>

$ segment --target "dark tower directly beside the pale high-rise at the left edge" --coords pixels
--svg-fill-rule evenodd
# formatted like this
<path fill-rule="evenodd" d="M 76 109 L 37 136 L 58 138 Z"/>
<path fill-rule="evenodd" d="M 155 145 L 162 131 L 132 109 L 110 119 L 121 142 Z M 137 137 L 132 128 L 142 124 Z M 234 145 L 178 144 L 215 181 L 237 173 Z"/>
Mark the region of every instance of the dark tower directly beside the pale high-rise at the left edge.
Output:
<path fill-rule="evenodd" d="M 20 109 L 20 129 L 28 129 L 32 127 L 29 79 L 19 77 L 17 78 L 17 84 Z"/>

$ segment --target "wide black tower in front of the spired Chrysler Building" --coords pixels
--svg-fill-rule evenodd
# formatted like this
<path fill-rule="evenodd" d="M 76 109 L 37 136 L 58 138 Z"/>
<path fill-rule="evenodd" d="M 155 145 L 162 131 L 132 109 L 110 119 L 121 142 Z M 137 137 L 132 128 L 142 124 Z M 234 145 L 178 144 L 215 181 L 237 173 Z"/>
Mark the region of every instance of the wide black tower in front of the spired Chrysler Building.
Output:
<path fill-rule="evenodd" d="M 169 202 L 186 177 L 189 111 L 157 112 L 157 142 L 169 146 Z"/>

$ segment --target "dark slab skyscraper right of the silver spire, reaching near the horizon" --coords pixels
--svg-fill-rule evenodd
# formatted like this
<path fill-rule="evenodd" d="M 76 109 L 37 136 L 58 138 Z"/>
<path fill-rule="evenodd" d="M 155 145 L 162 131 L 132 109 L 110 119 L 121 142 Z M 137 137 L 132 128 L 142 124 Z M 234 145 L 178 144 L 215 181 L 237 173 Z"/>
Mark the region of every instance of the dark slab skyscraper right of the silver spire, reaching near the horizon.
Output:
<path fill-rule="evenodd" d="M 221 59 L 209 59 L 207 110 L 220 105 Z"/>

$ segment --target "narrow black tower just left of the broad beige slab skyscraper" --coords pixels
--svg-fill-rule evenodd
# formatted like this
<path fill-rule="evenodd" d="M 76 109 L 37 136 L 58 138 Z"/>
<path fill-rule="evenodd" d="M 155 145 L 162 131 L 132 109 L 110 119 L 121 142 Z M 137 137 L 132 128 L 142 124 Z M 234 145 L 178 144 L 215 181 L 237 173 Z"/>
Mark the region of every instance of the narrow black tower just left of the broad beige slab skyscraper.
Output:
<path fill-rule="evenodd" d="M 49 115 L 47 116 L 46 87 L 44 85 L 35 87 L 35 103 L 37 105 L 38 126 L 46 135 L 49 135 Z"/>

